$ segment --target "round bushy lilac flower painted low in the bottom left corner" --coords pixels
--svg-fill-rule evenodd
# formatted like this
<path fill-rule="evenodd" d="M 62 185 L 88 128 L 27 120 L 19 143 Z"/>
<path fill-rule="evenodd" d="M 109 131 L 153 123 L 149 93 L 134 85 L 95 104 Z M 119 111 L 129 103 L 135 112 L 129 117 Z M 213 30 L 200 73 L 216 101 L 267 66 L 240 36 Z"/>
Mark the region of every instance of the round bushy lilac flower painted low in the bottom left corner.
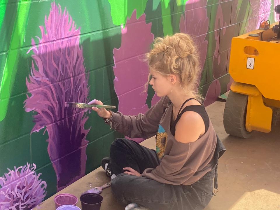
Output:
<path fill-rule="evenodd" d="M 47 184 L 35 169 L 27 163 L 0 177 L 0 210 L 30 210 L 43 201 Z"/>

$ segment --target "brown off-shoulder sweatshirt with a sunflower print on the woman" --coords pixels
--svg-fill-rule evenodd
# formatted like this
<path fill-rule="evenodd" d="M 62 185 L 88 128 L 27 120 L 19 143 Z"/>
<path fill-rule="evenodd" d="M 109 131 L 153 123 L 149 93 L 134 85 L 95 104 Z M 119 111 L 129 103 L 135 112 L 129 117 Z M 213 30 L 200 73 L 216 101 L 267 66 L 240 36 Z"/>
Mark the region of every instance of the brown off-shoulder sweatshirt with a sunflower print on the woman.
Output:
<path fill-rule="evenodd" d="M 156 152 L 160 164 L 146 169 L 142 176 L 160 183 L 190 185 L 214 167 L 217 137 L 209 120 L 209 127 L 197 141 L 181 143 L 170 132 L 172 104 L 162 97 L 145 115 L 113 113 L 112 127 L 131 138 L 150 138 L 156 135 Z M 186 133 L 185 135 L 188 135 Z"/>

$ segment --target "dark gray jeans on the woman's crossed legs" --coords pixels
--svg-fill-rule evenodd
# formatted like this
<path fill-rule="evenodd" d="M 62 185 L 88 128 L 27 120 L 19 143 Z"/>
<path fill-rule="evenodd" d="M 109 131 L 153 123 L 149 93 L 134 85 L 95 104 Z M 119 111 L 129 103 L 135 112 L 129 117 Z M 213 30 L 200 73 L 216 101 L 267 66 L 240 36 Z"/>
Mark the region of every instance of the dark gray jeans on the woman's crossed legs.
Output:
<path fill-rule="evenodd" d="M 115 139 L 111 145 L 111 164 L 115 175 L 112 192 L 118 201 L 135 202 L 152 210 L 204 209 L 213 196 L 215 167 L 192 185 L 170 185 L 146 177 L 123 174 L 122 168 L 131 167 L 140 174 L 160 163 L 155 150 L 135 141 Z"/>

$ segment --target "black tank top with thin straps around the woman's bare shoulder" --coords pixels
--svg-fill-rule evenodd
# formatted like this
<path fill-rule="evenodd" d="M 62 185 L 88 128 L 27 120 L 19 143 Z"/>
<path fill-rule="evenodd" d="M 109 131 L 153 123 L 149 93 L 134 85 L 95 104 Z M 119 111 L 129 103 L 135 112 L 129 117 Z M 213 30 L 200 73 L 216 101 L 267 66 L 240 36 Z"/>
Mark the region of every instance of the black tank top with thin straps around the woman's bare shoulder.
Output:
<path fill-rule="evenodd" d="M 203 119 L 203 122 L 204 122 L 204 125 L 205 125 L 205 133 L 208 130 L 209 116 L 206 113 L 205 107 L 203 105 L 190 105 L 190 106 L 186 106 L 185 108 L 183 108 L 185 103 L 187 103 L 189 100 L 192 100 L 192 99 L 195 99 L 195 98 L 190 98 L 183 103 L 183 105 L 181 106 L 181 108 L 178 112 L 179 114 L 177 115 L 177 118 L 175 119 L 173 125 L 170 127 L 170 132 L 171 132 L 171 134 L 173 134 L 173 136 L 175 136 L 175 126 L 176 126 L 177 122 L 181 118 L 182 114 L 186 111 L 194 111 L 194 112 L 198 113 Z M 170 101 L 170 103 L 171 103 L 171 101 Z M 181 111 L 182 108 L 183 108 L 183 110 Z M 181 111 L 181 113 L 180 113 L 180 111 Z"/>

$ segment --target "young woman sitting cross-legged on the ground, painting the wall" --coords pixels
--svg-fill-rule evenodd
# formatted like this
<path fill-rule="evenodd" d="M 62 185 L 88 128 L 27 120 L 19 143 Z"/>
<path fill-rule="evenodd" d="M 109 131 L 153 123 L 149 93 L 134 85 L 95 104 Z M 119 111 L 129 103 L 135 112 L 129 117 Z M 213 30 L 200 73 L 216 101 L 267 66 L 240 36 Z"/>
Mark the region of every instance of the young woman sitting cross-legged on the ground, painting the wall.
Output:
<path fill-rule="evenodd" d="M 218 157 L 225 148 L 197 94 L 199 55 L 188 34 L 156 38 L 146 54 L 157 104 L 136 116 L 92 107 L 113 129 L 131 138 L 156 135 L 156 150 L 115 139 L 101 166 L 112 192 L 149 209 L 204 209 L 217 189 Z M 90 104 L 102 104 L 93 100 Z M 215 181 L 214 181 L 215 177 Z"/>

